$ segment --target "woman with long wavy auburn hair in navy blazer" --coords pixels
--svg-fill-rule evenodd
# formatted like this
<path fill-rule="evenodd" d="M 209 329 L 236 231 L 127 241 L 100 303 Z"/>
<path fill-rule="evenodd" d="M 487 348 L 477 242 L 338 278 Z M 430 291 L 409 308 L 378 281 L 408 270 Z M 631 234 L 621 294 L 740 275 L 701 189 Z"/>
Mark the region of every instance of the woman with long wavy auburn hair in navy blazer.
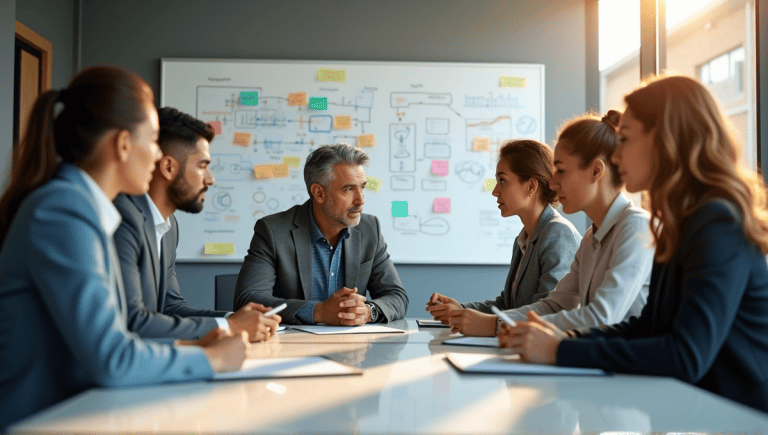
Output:
<path fill-rule="evenodd" d="M 768 412 L 765 183 L 696 80 L 654 78 L 624 100 L 613 161 L 629 191 L 650 194 L 648 303 L 567 334 L 530 314 L 499 341 L 525 361 L 673 376 Z"/>

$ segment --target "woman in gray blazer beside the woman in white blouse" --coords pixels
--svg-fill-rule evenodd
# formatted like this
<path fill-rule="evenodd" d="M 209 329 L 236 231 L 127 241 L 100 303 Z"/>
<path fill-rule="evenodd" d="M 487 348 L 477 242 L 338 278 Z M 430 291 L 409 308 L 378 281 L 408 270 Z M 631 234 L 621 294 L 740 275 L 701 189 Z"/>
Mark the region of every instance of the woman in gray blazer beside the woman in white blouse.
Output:
<path fill-rule="evenodd" d="M 433 293 L 426 308 L 432 317 L 448 324 L 451 313 L 462 310 L 466 323 L 473 325 L 473 330 L 465 333 L 495 335 L 497 317 L 492 314 L 492 306 L 500 310 L 519 308 L 555 288 L 568 272 L 581 236 L 552 208 L 558 200 L 549 187 L 554 171 L 552 150 L 541 142 L 513 140 L 501 147 L 492 193 L 503 217 L 518 216 L 523 223 L 504 290 L 496 299 L 463 304 Z"/>

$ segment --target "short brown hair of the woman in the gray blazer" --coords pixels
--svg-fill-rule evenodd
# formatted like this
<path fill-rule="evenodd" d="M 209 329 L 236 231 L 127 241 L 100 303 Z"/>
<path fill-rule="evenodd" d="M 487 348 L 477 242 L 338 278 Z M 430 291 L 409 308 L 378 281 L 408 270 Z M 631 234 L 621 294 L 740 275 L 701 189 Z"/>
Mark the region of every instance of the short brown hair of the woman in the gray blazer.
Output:
<path fill-rule="evenodd" d="M 549 188 L 555 173 L 554 155 L 550 147 L 535 140 L 510 140 L 501 146 L 499 160 L 503 160 L 521 182 L 535 178 L 539 182 L 541 202 L 557 203 L 557 192 Z"/>

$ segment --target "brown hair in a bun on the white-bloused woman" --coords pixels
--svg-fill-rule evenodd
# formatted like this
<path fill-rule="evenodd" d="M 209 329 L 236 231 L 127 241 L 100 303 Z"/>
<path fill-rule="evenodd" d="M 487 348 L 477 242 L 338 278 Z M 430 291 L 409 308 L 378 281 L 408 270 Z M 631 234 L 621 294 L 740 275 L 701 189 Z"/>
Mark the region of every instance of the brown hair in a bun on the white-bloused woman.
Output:
<path fill-rule="evenodd" d="M 611 162 L 611 155 L 619 146 L 616 129 L 621 113 L 609 110 L 602 118 L 596 113 L 587 113 L 571 119 L 560 127 L 557 146 L 579 159 L 579 166 L 585 169 L 595 159 L 602 159 L 611 173 L 613 187 L 621 187 L 619 167 Z"/>

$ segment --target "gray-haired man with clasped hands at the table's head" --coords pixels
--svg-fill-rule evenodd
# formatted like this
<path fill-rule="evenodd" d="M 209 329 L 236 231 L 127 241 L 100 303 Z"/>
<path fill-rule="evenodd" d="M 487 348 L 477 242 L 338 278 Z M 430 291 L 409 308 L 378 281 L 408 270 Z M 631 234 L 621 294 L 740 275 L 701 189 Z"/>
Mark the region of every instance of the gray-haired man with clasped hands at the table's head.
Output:
<path fill-rule="evenodd" d="M 310 199 L 256 222 L 235 308 L 285 302 L 284 322 L 348 326 L 405 315 L 408 296 L 379 220 L 362 213 L 368 161 L 363 150 L 347 144 L 325 145 L 307 156 Z"/>

